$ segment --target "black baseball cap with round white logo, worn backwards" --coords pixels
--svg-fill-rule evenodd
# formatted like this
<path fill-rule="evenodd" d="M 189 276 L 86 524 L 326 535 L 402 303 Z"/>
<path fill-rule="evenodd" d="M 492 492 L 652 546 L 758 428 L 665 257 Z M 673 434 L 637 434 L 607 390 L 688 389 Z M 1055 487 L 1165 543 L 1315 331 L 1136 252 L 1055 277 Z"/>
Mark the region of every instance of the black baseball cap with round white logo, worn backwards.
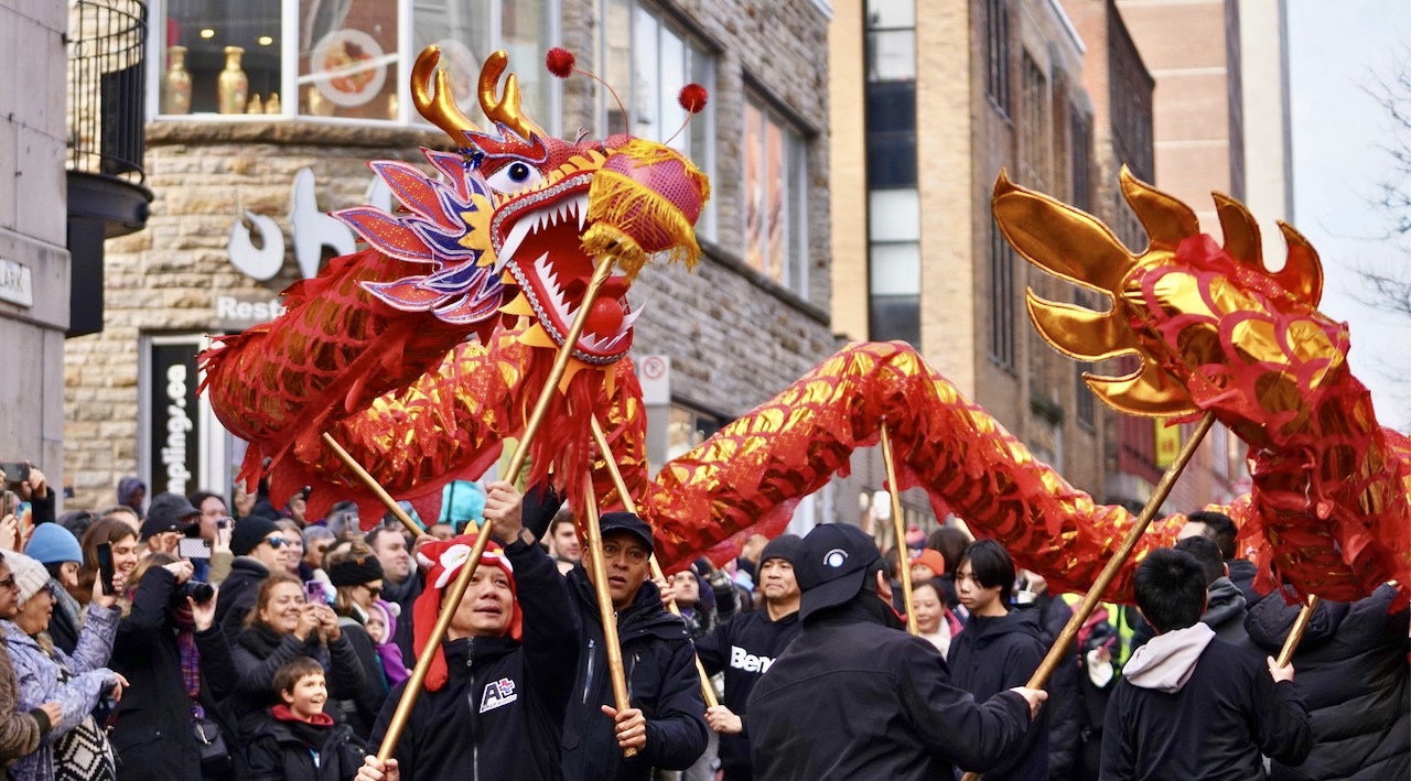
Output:
<path fill-rule="evenodd" d="M 799 543 L 793 558 L 794 578 L 803 595 L 799 617 L 842 605 L 866 585 L 868 575 L 882 568 L 882 551 L 866 531 L 847 523 L 814 526 Z"/>

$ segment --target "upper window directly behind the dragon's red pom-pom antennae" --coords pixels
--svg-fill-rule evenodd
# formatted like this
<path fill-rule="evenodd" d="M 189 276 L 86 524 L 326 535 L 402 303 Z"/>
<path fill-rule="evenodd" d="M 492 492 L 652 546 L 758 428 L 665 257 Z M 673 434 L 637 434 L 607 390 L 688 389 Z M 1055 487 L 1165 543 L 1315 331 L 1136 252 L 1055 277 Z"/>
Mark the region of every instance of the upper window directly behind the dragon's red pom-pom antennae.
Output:
<path fill-rule="evenodd" d="M 677 102 L 683 86 L 696 82 L 714 94 L 714 55 L 655 3 L 602 0 L 600 30 L 600 61 L 605 63 L 601 76 L 622 100 L 619 109 L 612 96 L 594 87 L 600 138 L 628 131 L 665 142 L 686 123 L 686 110 Z M 622 109 L 632 116 L 624 117 Z M 710 100 L 670 145 L 710 175 L 714 172 L 714 138 L 715 102 Z M 696 221 L 696 231 L 715 238 L 715 209 L 710 203 Z"/>

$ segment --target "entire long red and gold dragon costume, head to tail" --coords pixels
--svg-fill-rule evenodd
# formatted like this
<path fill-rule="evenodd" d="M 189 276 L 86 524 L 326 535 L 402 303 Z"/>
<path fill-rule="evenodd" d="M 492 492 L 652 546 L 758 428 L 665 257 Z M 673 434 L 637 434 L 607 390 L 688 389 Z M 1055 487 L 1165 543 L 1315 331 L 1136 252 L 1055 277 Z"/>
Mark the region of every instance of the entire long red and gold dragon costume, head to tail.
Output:
<path fill-rule="evenodd" d="M 621 500 L 601 460 L 615 460 L 667 571 L 701 553 L 734 555 L 751 533 L 779 533 L 800 498 L 876 444 L 885 422 L 902 488 L 924 488 L 938 512 L 998 539 L 1058 591 L 1094 582 L 1133 517 L 1036 461 L 903 343 L 841 350 L 648 475 L 646 416 L 626 357 L 639 312 L 626 293 L 649 252 L 697 257 L 690 226 L 708 197 L 704 176 L 660 144 L 549 137 L 521 113 L 514 75 L 501 94 L 502 52 L 480 79 L 495 127 L 478 130 L 436 61 L 435 49 L 418 59 L 413 97 L 457 151 L 428 151 L 430 176 L 371 164 L 402 211 L 339 213 L 368 248 L 291 288 L 282 317 L 203 357 L 217 416 L 250 441 L 246 479 L 271 474 L 277 502 L 312 485 L 313 516 L 354 499 L 363 517 L 380 517 L 377 499 L 319 441 L 327 431 L 394 496 L 435 515 L 446 482 L 480 476 L 523 430 L 588 276 L 617 257 L 622 272 L 590 310 L 531 462 L 533 479 L 552 474 L 573 498 L 591 475 L 610 508 Z M 1253 492 L 1225 509 L 1256 546 L 1263 589 L 1288 582 L 1291 598 L 1329 599 L 1388 579 L 1405 589 L 1411 443 L 1377 426 L 1348 371 L 1346 328 L 1316 310 L 1316 252 L 1285 227 L 1288 261 L 1268 272 L 1254 221 L 1233 200 L 1218 196 L 1221 247 L 1188 206 L 1126 172 L 1122 187 L 1150 235 L 1140 254 L 1095 217 L 1000 176 L 995 214 L 1015 248 L 1110 300 L 1099 313 L 1030 293 L 1034 324 L 1072 357 L 1140 358 L 1129 376 L 1088 378 L 1109 405 L 1178 419 L 1211 412 L 1250 445 Z M 588 447 L 594 414 L 611 454 Z M 1177 526 L 1153 526 L 1113 599 L 1130 598 L 1134 562 L 1170 544 Z"/>

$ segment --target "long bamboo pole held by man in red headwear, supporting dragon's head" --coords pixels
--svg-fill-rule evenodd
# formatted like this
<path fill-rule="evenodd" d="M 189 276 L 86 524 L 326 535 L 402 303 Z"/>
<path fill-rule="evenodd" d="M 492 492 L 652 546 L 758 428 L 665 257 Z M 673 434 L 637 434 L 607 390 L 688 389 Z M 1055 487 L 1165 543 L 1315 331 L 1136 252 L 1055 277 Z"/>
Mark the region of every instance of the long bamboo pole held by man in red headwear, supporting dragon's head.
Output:
<path fill-rule="evenodd" d="M 602 288 L 608 275 L 612 273 L 612 264 L 614 258 L 611 257 L 604 255 L 598 258 L 598 265 L 593 269 L 593 276 L 588 279 L 588 288 L 583 292 L 583 303 L 579 306 L 579 312 L 573 317 L 573 324 L 569 326 L 569 336 L 564 337 L 563 345 L 559 347 L 559 352 L 553 359 L 553 368 L 549 369 L 549 378 L 545 382 L 545 386 L 539 390 L 539 400 L 535 403 L 533 412 L 529 414 L 529 420 L 525 422 L 525 430 L 519 437 L 519 445 L 509 458 L 509 467 L 505 469 L 507 475 L 515 475 L 523 468 L 525 460 L 529 457 L 529 443 L 533 441 L 535 434 L 539 433 L 539 427 L 543 426 L 543 419 L 549 410 L 549 402 L 553 399 L 553 395 L 559 392 L 559 379 L 563 378 L 563 372 L 569 368 L 569 359 L 573 357 L 573 345 L 577 344 L 579 337 L 583 336 L 583 324 L 588 320 L 588 312 L 593 309 L 594 299 L 598 297 L 598 290 Z M 412 706 L 416 705 L 416 698 L 422 694 L 422 685 L 426 679 L 425 670 L 430 670 L 432 657 L 436 656 L 436 648 L 440 647 L 442 639 L 446 637 L 446 630 L 450 627 L 450 619 L 456 615 L 456 608 L 460 605 L 460 599 L 466 594 L 470 577 L 480 565 L 480 557 L 485 553 L 485 546 L 488 544 L 490 529 L 481 527 L 480 533 L 476 536 L 476 547 L 470 551 L 470 560 L 466 561 L 452 585 L 452 599 L 447 602 L 450 609 L 443 608 L 440 610 L 440 615 L 436 619 L 436 626 L 432 627 L 432 636 L 426 640 L 426 647 L 422 648 L 422 656 L 416 660 L 416 671 L 420 671 L 420 677 L 418 677 L 416 671 L 413 671 L 412 678 L 406 682 L 406 688 L 402 689 L 402 699 L 398 701 L 396 711 L 392 712 L 392 719 L 387 725 L 387 734 L 382 737 L 382 746 L 377 751 L 378 760 L 387 761 L 387 758 L 391 757 L 392 751 L 396 749 L 396 742 L 402 737 L 402 730 L 406 727 L 406 719 L 412 715 Z M 608 606 L 611 608 L 611 605 Z M 612 626 L 612 647 L 615 648 L 617 625 Z M 621 650 L 618 650 L 619 677 L 621 663 Z M 626 691 L 625 687 L 624 691 Z"/>

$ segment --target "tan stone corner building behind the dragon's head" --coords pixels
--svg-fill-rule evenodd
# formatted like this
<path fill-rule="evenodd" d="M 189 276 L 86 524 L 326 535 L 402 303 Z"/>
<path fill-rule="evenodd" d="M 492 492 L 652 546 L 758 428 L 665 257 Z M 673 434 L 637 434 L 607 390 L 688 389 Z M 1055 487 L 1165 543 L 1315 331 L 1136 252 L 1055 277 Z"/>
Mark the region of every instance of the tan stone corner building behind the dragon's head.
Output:
<path fill-rule="evenodd" d="M 71 340 L 65 350 L 65 462 L 78 506 L 110 503 L 119 478 L 128 474 L 152 481 L 152 492 L 175 486 L 171 481 L 182 472 L 189 472 L 186 491 L 229 489 L 240 443 L 219 429 L 203 400 L 193 399 L 189 412 L 175 419 L 168 414 L 181 407 L 176 396 L 192 399 L 195 385 L 195 376 L 179 376 L 185 385 L 172 382 L 183 371 L 171 369 L 172 361 L 183 361 L 206 336 L 234 333 L 267 319 L 278 310 L 278 292 L 303 276 L 310 252 L 323 258 L 334 254 L 332 247 L 295 247 L 295 202 L 303 203 L 298 209 L 305 211 L 310 193 L 316 211 L 364 203 L 373 180 L 368 159 L 415 162 L 422 159 L 420 145 L 447 144 L 439 131 L 413 121 L 405 86 L 425 42 L 442 44 L 447 55 L 461 48 L 474 55 L 487 47 L 508 48 L 511 69 L 525 85 L 526 111 L 550 133 L 570 138 L 576 127 L 604 137 L 621 130 L 624 120 L 586 79 L 559 83 L 546 78 L 543 52 L 552 45 L 571 48 L 581 68 L 598 72 L 619 92 L 628 85 L 634 130 L 652 138 L 665 140 L 674 130 L 665 127 L 669 107 L 663 110 L 665 102 L 653 100 L 667 90 L 674 96 L 686 80 L 704 76 L 711 107 L 693 120 L 683 144 L 713 179 L 713 206 L 700 231 L 706 259 L 694 273 L 649 266 L 632 293 L 635 307 L 645 305 L 634 357 L 662 355 L 672 368 L 669 399 L 656 405 L 650 419 L 649 454 L 656 464 L 748 412 L 834 350 L 828 326 L 827 59 L 818 51 L 830 18 L 827 4 L 540 0 L 511 6 L 505 0 L 491 3 L 494 13 L 485 20 L 464 8 L 442 10 L 437 13 L 450 16 L 429 20 L 420 16 L 422 4 L 411 0 L 384 6 L 395 6 L 395 18 L 382 24 L 363 18 L 360 14 L 378 13 L 368 10 L 378 6 L 354 3 L 341 23 L 313 35 L 264 20 L 274 25 L 270 45 L 284 58 L 247 48 L 250 92 L 268 100 L 270 92 L 282 87 L 281 94 L 295 97 L 281 102 L 282 113 L 258 117 L 214 113 L 210 89 L 219 62 L 212 45 L 224 39 L 219 20 L 210 21 L 214 44 L 202 58 L 196 56 L 202 45 L 198 31 L 205 35 L 209 30 L 205 20 L 166 23 L 168 31 L 189 32 L 181 44 L 190 44 L 193 82 L 206 92 L 192 100 L 189 116 L 174 114 L 171 106 L 152 99 L 147 171 L 157 200 L 150 227 L 109 242 L 104 330 Z M 490 18 L 501 20 L 502 28 L 484 32 L 477 27 Z M 162 20 L 154 20 L 154 30 L 161 27 Z M 430 27 L 435 32 L 428 32 Z M 368 38 L 388 51 L 408 28 L 415 45 L 388 61 L 385 85 L 353 85 L 371 99 L 354 107 L 330 107 L 315 94 L 322 83 L 309 72 L 315 55 L 334 45 L 356 51 L 347 49 L 349 42 L 367 51 Z M 285 41 L 295 32 L 305 41 Z M 171 45 L 178 42 L 154 35 L 152 61 L 165 62 L 168 72 Z M 271 56 L 261 59 L 251 52 Z M 272 72 L 270 62 L 275 63 Z M 282 70 L 279 62 L 285 63 Z M 478 75 L 478 59 L 471 62 L 467 68 L 473 70 L 453 68 L 453 76 Z M 660 68 L 663 62 L 672 68 Z M 626 79 L 614 82 L 614 70 L 624 63 Z M 660 85 L 642 87 L 641 79 L 673 68 L 686 78 L 667 85 L 667 76 L 660 76 Z M 159 93 L 165 76 L 162 68 L 155 70 L 152 85 Z M 381 92 L 374 94 L 377 89 Z M 474 116 L 473 109 L 466 111 Z M 777 151 L 761 140 L 779 140 L 787 152 L 779 171 L 758 168 L 759 155 L 773 165 L 770 154 Z M 312 182 L 301 176 L 305 169 Z M 769 189 L 762 171 L 780 179 L 787 175 L 787 180 Z M 759 187 L 765 187 L 765 203 L 782 206 L 787 224 L 751 231 L 761 214 Z M 375 203 L 385 196 L 371 197 Z M 306 228 L 305 235 L 325 227 Z M 327 230 L 323 235 L 336 244 L 336 231 Z M 246 258 L 268 259 L 261 255 L 270 248 L 267 242 L 284 242 L 278 271 L 261 281 L 248 273 L 250 262 L 246 271 L 237 268 L 233 237 L 244 245 Z M 183 436 L 169 440 L 172 431 Z M 185 450 L 176 455 L 185 462 L 174 467 L 171 448 L 178 440 Z"/>

